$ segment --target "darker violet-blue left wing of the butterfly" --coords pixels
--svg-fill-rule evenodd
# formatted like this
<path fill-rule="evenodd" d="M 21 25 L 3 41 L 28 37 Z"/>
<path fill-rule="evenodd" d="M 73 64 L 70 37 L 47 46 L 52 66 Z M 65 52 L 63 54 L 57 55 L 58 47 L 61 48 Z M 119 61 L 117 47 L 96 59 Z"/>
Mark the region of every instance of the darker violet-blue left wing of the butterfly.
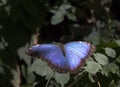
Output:
<path fill-rule="evenodd" d="M 60 70 L 67 69 L 66 59 L 61 51 L 61 48 L 54 44 L 41 44 L 32 46 L 28 52 L 29 55 L 33 55 L 50 63 L 50 65 Z"/>

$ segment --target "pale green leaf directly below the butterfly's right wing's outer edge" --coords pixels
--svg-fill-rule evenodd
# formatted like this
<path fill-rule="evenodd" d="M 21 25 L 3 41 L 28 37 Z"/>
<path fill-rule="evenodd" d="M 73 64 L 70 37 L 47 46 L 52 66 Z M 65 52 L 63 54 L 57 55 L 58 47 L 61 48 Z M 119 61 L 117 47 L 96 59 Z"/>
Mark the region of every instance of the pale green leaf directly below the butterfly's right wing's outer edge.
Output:
<path fill-rule="evenodd" d="M 85 71 L 92 73 L 92 74 L 97 73 L 100 69 L 102 69 L 100 64 L 94 61 L 88 61 L 87 66 L 84 68 L 85 68 Z"/>

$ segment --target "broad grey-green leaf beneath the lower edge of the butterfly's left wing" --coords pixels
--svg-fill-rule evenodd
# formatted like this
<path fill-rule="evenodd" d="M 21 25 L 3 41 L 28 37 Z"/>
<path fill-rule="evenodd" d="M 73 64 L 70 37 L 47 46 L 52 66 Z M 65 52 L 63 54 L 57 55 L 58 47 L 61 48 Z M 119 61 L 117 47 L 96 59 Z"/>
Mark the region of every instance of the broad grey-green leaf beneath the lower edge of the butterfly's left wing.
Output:
<path fill-rule="evenodd" d="M 33 72 L 33 71 L 41 76 L 46 76 L 53 72 L 53 70 L 50 67 L 48 67 L 47 63 L 40 59 L 36 59 L 33 62 L 29 72 Z"/>

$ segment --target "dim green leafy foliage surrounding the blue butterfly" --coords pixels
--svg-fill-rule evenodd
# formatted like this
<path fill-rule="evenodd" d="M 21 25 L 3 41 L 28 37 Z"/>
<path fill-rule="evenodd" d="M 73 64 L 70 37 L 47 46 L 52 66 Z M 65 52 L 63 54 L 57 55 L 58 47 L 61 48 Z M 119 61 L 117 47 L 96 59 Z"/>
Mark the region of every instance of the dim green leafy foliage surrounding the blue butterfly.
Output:
<path fill-rule="evenodd" d="M 119 87 L 120 22 L 111 0 L 0 0 L 0 87 Z M 25 52 L 39 43 L 96 46 L 77 74 L 54 72 Z M 54 72 L 54 73 L 53 73 Z M 50 79 L 51 77 L 51 79 Z"/>

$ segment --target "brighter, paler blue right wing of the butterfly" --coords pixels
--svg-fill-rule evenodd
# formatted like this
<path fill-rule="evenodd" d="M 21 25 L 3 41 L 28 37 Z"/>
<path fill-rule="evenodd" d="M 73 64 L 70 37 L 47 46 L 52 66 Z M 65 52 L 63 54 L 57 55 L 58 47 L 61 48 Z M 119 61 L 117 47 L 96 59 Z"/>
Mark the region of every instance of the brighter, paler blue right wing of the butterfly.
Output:
<path fill-rule="evenodd" d="M 76 72 L 82 62 L 94 51 L 94 46 L 87 42 L 70 42 L 64 45 L 69 72 Z"/>

